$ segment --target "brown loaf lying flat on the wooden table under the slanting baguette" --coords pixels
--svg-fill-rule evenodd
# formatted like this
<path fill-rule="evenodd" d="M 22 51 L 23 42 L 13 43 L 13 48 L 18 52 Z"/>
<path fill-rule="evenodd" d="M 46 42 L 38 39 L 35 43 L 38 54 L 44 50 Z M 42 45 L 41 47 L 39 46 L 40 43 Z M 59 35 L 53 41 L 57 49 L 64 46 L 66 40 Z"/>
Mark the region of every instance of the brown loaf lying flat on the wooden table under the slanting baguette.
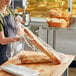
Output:
<path fill-rule="evenodd" d="M 43 63 L 51 62 L 50 58 L 42 52 L 22 51 L 19 55 L 21 63 Z"/>

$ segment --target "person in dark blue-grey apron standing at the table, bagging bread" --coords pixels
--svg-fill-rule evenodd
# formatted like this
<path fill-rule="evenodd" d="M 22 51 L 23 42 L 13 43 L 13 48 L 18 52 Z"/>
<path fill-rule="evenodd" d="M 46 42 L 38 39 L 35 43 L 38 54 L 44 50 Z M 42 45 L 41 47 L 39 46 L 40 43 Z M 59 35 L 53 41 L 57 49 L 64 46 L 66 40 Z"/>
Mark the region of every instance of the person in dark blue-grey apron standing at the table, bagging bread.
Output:
<path fill-rule="evenodd" d="M 11 0 L 0 0 L 0 65 L 11 56 L 10 44 L 21 41 L 21 37 L 16 37 L 14 17 L 7 6 Z"/>

